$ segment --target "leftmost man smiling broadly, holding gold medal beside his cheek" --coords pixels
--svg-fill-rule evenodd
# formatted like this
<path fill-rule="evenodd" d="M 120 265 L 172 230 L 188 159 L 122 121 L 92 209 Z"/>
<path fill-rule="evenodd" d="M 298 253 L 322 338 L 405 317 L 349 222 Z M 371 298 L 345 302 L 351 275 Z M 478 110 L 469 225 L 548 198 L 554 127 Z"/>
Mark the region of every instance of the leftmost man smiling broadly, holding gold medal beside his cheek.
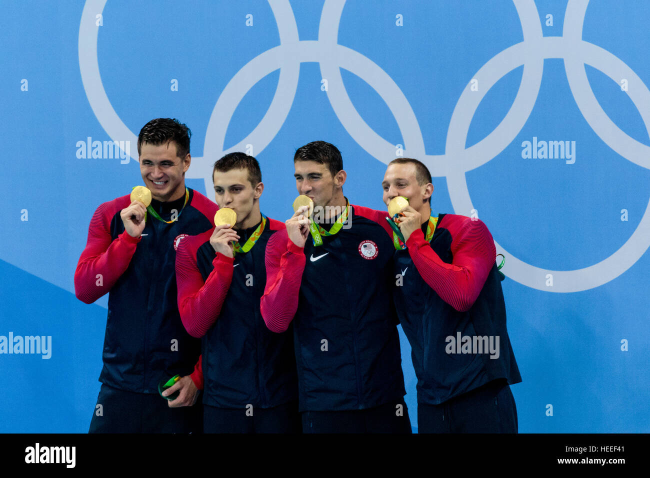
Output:
<path fill-rule="evenodd" d="M 176 304 L 179 241 L 213 227 L 216 204 L 185 187 L 190 130 L 170 118 L 148 122 L 138 135 L 146 207 L 130 194 L 101 204 L 75 271 L 75 294 L 90 304 L 109 293 L 102 382 L 90 432 L 197 432 L 193 405 L 201 383 L 201 344 L 187 334 Z M 158 385 L 181 375 L 169 392 Z"/>

